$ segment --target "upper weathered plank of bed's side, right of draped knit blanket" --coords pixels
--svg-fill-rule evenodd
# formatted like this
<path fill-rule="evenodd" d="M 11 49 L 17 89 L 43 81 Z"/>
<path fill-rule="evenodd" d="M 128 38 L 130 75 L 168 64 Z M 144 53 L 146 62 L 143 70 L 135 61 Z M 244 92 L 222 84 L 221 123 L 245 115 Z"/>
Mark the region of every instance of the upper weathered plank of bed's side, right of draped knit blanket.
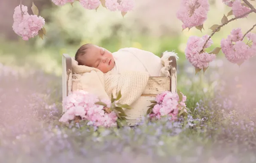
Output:
<path fill-rule="evenodd" d="M 164 91 L 171 91 L 170 77 L 150 76 L 142 95 L 157 95 Z"/>

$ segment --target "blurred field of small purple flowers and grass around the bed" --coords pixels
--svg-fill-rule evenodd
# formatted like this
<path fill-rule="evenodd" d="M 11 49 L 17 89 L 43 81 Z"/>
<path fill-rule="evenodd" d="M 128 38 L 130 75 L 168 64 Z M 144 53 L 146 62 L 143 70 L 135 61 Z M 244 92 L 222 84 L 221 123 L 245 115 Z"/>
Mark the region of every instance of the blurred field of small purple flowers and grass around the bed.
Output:
<path fill-rule="evenodd" d="M 61 77 L 0 63 L 0 162 L 254 163 L 253 63 L 217 59 L 204 75 L 178 67 L 188 117 L 120 129 L 59 123 Z"/>

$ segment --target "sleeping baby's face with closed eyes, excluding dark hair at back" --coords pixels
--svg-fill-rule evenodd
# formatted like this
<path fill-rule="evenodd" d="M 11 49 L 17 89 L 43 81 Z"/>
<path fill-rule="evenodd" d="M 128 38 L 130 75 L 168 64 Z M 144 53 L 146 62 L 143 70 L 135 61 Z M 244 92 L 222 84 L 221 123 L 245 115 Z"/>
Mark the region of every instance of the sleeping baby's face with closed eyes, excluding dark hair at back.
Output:
<path fill-rule="evenodd" d="M 97 45 L 91 45 L 81 57 L 86 66 L 95 67 L 103 73 L 110 71 L 115 65 L 112 53 Z"/>

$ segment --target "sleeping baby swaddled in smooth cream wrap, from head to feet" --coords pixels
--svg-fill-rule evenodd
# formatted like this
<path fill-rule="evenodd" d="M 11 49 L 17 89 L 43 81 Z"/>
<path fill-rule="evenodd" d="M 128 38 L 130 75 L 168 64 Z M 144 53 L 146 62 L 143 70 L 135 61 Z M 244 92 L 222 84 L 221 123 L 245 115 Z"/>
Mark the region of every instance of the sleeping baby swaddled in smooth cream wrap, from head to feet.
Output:
<path fill-rule="evenodd" d="M 82 45 L 76 52 L 79 65 L 94 67 L 103 73 L 120 74 L 125 71 L 149 72 L 150 76 L 162 76 L 164 64 L 155 54 L 138 48 L 122 48 L 111 53 L 94 44 Z"/>

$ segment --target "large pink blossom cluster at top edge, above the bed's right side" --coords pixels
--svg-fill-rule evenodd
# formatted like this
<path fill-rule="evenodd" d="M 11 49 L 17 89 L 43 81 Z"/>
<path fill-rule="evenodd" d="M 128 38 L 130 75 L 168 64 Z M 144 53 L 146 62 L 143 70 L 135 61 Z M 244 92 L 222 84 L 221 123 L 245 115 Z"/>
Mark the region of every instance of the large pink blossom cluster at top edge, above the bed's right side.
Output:
<path fill-rule="evenodd" d="M 183 29 L 196 27 L 207 19 L 209 7 L 208 0 L 181 0 L 176 16 L 183 22 Z"/>

